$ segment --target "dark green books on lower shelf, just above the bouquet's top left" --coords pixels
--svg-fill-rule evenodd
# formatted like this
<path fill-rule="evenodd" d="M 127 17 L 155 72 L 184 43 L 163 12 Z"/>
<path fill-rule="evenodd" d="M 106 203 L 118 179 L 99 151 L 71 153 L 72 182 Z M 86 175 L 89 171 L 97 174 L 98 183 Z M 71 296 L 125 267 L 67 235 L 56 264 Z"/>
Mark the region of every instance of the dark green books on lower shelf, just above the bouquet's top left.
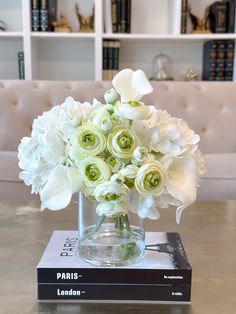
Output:
<path fill-rule="evenodd" d="M 119 71 L 120 42 L 118 40 L 103 41 L 102 79 L 110 81 Z"/>

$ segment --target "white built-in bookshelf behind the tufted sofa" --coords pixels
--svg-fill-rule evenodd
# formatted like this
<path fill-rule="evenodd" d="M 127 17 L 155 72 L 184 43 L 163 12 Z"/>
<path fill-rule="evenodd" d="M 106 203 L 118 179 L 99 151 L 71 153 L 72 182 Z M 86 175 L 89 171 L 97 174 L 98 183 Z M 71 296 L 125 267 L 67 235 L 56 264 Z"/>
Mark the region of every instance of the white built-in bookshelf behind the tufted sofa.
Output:
<path fill-rule="evenodd" d="M 163 52 L 172 60 L 172 76 L 183 80 L 189 68 L 201 77 L 203 43 L 236 40 L 236 34 L 180 34 L 181 0 L 133 0 L 131 34 L 104 31 L 104 5 L 110 0 L 58 0 L 72 33 L 32 32 L 30 0 L 0 0 L 0 79 L 18 78 L 17 52 L 24 51 L 25 78 L 35 80 L 101 80 L 102 42 L 120 40 L 120 69 L 143 69 L 152 76 L 154 57 Z M 204 0 L 206 1 L 206 0 Z M 212 0 L 209 0 L 210 3 Z M 95 6 L 95 32 L 79 33 L 75 3 L 83 12 Z M 88 13 L 89 14 L 89 13 Z"/>

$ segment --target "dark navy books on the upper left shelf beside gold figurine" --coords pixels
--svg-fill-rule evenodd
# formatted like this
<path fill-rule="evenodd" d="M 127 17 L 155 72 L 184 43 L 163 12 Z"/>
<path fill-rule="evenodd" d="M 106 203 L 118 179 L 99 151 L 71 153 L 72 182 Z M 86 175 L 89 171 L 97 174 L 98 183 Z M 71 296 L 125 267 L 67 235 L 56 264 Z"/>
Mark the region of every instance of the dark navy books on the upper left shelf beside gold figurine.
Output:
<path fill-rule="evenodd" d="M 57 0 L 31 0 L 31 21 L 33 32 L 53 30 L 57 20 Z"/>

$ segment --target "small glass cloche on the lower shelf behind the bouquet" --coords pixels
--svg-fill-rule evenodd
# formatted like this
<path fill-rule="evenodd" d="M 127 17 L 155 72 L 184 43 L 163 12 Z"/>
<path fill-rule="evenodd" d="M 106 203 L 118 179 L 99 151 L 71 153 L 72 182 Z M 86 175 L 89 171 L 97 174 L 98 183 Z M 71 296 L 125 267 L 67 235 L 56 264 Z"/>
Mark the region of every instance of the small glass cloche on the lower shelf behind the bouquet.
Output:
<path fill-rule="evenodd" d="M 152 81 L 173 81 L 170 75 L 171 59 L 164 53 L 160 53 L 153 61 L 153 77 Z"/>

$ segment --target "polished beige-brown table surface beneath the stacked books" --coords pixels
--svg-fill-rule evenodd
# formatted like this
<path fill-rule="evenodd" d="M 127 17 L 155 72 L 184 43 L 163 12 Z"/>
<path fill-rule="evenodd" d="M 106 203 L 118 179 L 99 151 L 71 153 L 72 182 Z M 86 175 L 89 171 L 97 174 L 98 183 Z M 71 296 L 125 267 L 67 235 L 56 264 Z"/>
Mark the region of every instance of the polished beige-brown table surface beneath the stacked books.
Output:
<path fill-rule="evenodd" d="M 192 302 L 165 304 L 38 303 L 36 266 L 53 230 L 77 228 L 75 204 L 40 212 L 37 201 L 0 202 L 0 313 L 236 313 L 236 201 L 196 202 L 183 212 L 161 210 L 146 230 L 179 232 L 193 268 Z"/>

